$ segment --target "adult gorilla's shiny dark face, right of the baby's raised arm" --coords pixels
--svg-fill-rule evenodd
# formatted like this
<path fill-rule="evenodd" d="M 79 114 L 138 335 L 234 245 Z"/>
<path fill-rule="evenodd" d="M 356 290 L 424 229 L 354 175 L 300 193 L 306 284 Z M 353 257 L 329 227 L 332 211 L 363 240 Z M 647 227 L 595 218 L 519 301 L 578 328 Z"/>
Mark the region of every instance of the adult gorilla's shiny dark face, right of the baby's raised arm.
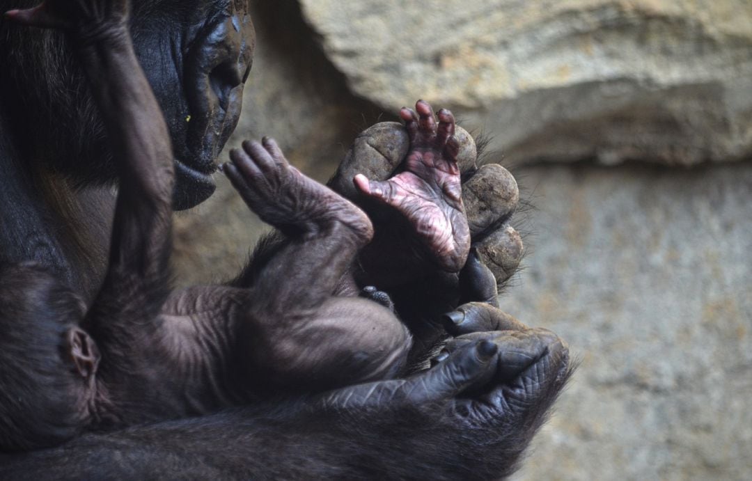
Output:
<path fill-rule="evenodd" d="M 132 35 L 172 138 L 174 207 L 193 207 L 214 192 L 240 116 L 256 43 L 247 0 L 134 0 Z"/>

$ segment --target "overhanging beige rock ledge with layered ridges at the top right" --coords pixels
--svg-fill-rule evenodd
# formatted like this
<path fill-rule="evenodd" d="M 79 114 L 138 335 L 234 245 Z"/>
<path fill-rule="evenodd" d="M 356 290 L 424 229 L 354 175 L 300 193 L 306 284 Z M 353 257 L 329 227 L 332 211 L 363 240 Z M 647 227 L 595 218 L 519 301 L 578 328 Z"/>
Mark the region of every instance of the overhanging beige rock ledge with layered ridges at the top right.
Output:
<path fill-rule="evenodd" d="M 748 0 L 300 0 L 357 95 L 461 111 L 517 162 L 752 153 Z"/>

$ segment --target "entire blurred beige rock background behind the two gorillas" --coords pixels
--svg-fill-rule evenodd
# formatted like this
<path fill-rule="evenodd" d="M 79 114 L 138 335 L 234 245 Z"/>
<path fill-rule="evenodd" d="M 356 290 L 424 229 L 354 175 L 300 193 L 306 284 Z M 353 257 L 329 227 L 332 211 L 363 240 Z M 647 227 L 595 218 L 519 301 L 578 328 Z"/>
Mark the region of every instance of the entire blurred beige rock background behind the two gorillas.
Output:
<path fill-rule="evenodd" d="M 326 180 L 425 98 L 535 208 L 505 310 L 582 365 L 516 479 L 752 479 L 750 0 L 257 0 L 232 144 Z M 183 284 L 263 230 L 220 179 L 178 217 Z M 305 286 L 302 286 L 305 288 Z"/>

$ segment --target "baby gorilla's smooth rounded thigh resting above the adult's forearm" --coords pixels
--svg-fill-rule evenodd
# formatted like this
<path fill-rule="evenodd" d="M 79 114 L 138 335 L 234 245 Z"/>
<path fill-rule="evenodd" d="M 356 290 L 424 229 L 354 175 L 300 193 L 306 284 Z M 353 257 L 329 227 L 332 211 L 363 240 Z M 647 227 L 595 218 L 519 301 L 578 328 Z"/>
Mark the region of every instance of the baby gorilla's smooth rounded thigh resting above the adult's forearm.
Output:
<path fill-rule="evenodd" d="M 405 367 L 412 346 L 394 313 L 364 298 L 330 297 L 312 312 L 291 305 L 272 320 L 277 322 L 262 326 L 263 332 L 256 322 L 249 324 L 247 337 L 259 374 L 253 378 L 265 380 L 262 389 L 271 391 L 324 391 L 390 379 Z"/>

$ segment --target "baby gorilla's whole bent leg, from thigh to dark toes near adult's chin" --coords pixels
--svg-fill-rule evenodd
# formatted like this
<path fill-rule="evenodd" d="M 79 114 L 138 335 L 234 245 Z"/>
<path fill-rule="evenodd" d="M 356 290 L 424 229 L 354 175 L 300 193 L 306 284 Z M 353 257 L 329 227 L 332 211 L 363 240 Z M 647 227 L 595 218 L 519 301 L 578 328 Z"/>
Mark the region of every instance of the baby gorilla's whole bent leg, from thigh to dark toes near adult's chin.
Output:
<path fill-rule="evenodd" d="M 274 381 L 255 387 L 329 389 L 394 374 L 410 346 L 402 323 L 372 301 L 332 297 L 371 240 L 365 213 L 292 167 L 274 141 L 245 142 L 230 158 L 223 171 L 232 185 L 287 235 L 271 256 L 254 261 L 259 271 L 238 322 L 250 374 Z"/>

